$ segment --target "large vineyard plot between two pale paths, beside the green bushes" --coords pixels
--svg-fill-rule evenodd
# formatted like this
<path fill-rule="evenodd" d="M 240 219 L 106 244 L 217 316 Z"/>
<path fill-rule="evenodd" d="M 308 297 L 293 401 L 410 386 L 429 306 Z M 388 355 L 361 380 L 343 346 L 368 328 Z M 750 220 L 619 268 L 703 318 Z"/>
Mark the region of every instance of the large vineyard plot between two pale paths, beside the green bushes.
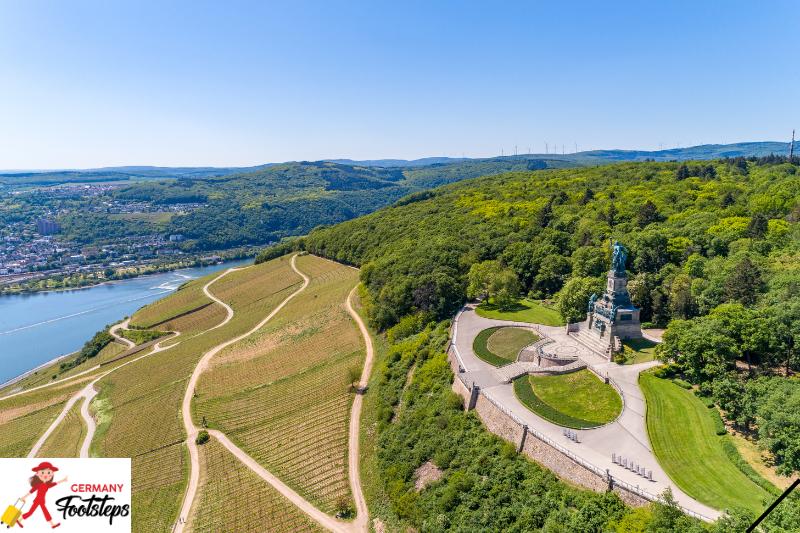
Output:
<path fill-rule="evenodd" d="M 297 266 L 311 278 L 308 288 L 212 360 L 197 386 L 195 419 L 333 513 L 350 499 L 350 374 L 360 374 L 364 354 L 344 302 L 358 272 L 314 256 Z"/>

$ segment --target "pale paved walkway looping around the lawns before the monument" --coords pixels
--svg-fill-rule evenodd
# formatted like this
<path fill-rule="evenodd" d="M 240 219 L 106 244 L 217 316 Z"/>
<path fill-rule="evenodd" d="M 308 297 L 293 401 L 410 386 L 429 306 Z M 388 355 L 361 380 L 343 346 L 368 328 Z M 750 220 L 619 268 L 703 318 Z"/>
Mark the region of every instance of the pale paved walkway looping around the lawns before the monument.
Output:
<path fill-rule="evenodd" d="M 472 351 L 475 336 L 486 328 L 493 326 L 520 326 L 534 329 L 550 337 L 554 342 L 547 344 L 544 351 L 557 354 L 575 354 L 586 364 L 592 366 L 601 375 L 607 375 L 622 391 L 624 407 L 622 414 L 614 422 L 603 427 L 579 430 L 579 443 L 572 442 L 563 435 L 563 428 L 553 424 L 526 408 L 514 395 L 513 385 L 505 382 L 503 372 L 479 359 Z M 547 437 L 558 442 L 570 452 L 633 486 L 639 486 L 651 494 L 660 494 L 666 488 L 678 503 L 685 509 L 716 519 L 720 512 L 704 505 L 681 491 L 667 476 L 656 460 L 650 448 L 650 441 L 645 426 L 645 401 L 639 388 L 639 373 L 659 363 L 656 361 L 638 365 L 617 365 L 591 352 L 572 337 L 567 335 L 563 327 L 551 327 L 508 320 L 494 320 L 478 316 L 474 306 L 465 307 L 455 320 L 453 344 L 464 368 L 464 379 L 467 383 L 475 383 L 481 392 L 493 398 L 528 427 L 536 429 Z M 614 464 L 611 454 L 622 455 L 633 460 L 644 468 L 653 471 L 653 481 L 649 481 L 621 466 Z"/>

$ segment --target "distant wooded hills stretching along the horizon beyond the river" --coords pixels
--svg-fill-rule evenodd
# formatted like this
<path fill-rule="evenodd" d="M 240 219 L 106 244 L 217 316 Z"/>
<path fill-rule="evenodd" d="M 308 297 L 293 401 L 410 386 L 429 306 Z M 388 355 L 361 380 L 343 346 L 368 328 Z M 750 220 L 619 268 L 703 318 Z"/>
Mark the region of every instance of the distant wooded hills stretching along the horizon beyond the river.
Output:
<path fill-rule="evenodd" d="M 47 195 L 0 196 L 0 221 L 33 223 L 37 213 L 58 212 L 62 236 L 98 244 L 153 233 L 181 234 L 186 251 L 260 246 L 302 235 L 371 213 L 381 207 L 416 201 L 428 189 L 505 172 L 590 167 L 624 161 L 717 159 L 784 154 L 788 143 L 703 145 L 661 151 L 595 150 L 576 154 L 538 154 L 485 159 L 432 157 L 405 161 L 301 161 L 255 167 L 124 166 L 89 170 L 0 174 L 0 189 L 25 189 L 77 183 L 120 185 L 100 197 L 69 200 Z M 347 161 L 347 162 L 344 162 Z M 142 217 L 120 217 L 96 204 L 146 202 L 169 216 L 158 224 Z M 21 203 L 22 202 L 22 203 Z M 175 214 L 170 205 L 201 204 Z M 159 207 L 160 206 L 160 207 Z"/>

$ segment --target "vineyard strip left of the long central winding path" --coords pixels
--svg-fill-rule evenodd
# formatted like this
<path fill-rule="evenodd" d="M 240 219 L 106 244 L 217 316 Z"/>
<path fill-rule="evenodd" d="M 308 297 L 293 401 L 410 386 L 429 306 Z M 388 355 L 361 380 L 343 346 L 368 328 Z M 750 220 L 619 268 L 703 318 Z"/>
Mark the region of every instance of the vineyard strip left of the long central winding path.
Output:
<path fill-rule="evenodd" d="M 194 280 L 158 305 L 147 306 L 147 320 L 181 315 L 173 326 L 180 323 L 193 330 L 181 331 L 169 350 L 121 368 L 97 385 L 100 393 L 92 405 L 99 423 L 92 453 L 132 457 L 133 504 L 140 510 L 133 515 L 134 531 L 169 531 L 177 516 L 188 478 L 180 405 L 197 361 L 217 344 L 252 328 L 301 282 L 288 258 L 226 275 L 210 290 L 230 303 L 234 318 L 223 327 L 204 332 L 197 329 L 198 325 L 211 327 L 225 316 L 224 311 L 209 311 L 221 309 L 217 304 L 203 307 L 207 298 L 198 296 L 198 290 L 219 274 Z M 184 290 L 194 296 L 187 298 Z M 185 314 L 187 307 L 195 311 Z"/>

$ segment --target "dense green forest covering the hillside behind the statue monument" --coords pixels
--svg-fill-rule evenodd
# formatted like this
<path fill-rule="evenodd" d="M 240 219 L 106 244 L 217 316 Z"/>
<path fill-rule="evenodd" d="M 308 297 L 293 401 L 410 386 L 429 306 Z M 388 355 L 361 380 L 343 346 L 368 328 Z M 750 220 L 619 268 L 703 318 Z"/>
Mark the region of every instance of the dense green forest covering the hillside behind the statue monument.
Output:
<path fill-rule="evenodd" d="M 495 283 L 502 290 L 554 298 L 582 319 L 602 287 L 609 240 L 619 240 L 643 321 L 668 327 L 658 353 L 670 371 L 699 385 L 789 474 L 800 470 L 798 163 L 772 156 L 507 173 L 284 246 L 360 265 L 370 320 L 386 329 L 408 315 L 452 316 L 487 270 L 515 278 Z"/>

